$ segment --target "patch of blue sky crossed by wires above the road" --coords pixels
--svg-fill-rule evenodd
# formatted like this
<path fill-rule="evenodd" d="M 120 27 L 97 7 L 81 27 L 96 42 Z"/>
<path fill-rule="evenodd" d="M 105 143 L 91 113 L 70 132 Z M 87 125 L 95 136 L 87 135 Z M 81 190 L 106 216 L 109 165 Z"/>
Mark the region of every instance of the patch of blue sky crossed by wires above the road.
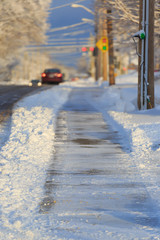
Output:
<path fill-rule="evenodd" d="M 72 8 L 68 5 L 72 3 L 77 3 L 93 10 L 93 0 L 53 0 L 48 19 L 51 32 L 47 34 L 49 35 L 49 44 L 52 43 L 54 46 L 61 44 L 64 46 L 64 49 L 59 52 L 52 51 L 52 59 L 75 67 L 78 59 L 82 56 L 81 50 L 77 46 L 86 46 L 88 44 L 88 38 L 91 34 L 94 34 L 94 26 L 85 23 L 61 31 L 55 30 L 82 23 L 82 18 L 94 19 L 94 16 L 83 8 Z M 73 45 L 75 47 L 70 49 L 69 46 Z"/>

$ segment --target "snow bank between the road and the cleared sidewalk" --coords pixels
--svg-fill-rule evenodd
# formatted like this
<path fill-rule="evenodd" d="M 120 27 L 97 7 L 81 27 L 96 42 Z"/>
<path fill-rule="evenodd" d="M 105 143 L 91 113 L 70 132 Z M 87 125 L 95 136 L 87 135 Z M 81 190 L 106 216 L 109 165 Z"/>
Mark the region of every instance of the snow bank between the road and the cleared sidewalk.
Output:
<path fill-rule="evenodd" d="M 14 109 L 11 134 L 1 149 L 2 221 L 0 239 L 41 239 L 36 223 L 37 203 L 43 193 L 45 172 L 54 151 L 58 109 L 70 90 L 54 87 L 24 98 Z M 61 97 L 60 97 L 61 96 Z"/>

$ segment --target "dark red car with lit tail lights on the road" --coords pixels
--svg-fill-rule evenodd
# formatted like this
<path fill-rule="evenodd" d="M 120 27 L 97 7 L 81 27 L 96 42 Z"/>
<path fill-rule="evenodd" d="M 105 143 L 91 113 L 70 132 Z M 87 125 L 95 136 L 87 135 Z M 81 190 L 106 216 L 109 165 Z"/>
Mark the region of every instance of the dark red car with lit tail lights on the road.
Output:
<path fill-rule="evenodd" d="M 58 68 L 50 68 L 45 69 L 41 74 L 42 84 L 44 83 L 62 83 L 63 82 L 63 74 Z"/>

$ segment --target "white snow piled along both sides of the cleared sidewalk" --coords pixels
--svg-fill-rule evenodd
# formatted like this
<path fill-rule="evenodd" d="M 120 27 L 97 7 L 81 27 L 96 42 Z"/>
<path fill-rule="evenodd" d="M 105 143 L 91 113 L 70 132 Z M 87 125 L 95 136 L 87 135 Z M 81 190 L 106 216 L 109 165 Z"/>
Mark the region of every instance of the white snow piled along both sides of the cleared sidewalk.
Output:
<path fill-rule="evenodd" d="M 44 219 L 37 215 L 37 204 L 43 194 L 46 169 L 53 154 L 56 116 L 75 87 L 104 90 L 101 96 L 88 96 L 88 101 L 124 136 L 122 145 L 128 157 L 133 159 L 133 165 L 137 166 L 155 206 L 160 209 L 160 84 L 156 82 L 156 107 L 138 111 L 136 83 L 137 73 L 134 72 L 118 77 L 116 85 L 111 87 L 101 81 L 94 83 L 90 78 L 66 82 L 18 102 L 9 139 L 0 150 L 1 240 L 51 239 L 47 229 L 40 227 L 39 221 Z M 157 215 L 160 216 L 158 210 Z"/>

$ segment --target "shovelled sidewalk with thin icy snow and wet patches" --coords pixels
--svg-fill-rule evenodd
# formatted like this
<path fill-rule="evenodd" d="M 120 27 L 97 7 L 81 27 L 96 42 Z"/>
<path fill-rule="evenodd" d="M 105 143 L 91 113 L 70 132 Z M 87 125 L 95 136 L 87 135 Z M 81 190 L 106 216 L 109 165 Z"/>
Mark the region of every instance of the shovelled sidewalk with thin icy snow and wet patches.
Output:
<path fill-rule="evenodd" d="M 40 213 L 53 215 L 64 236 L 90 232 L 84 239 L 112 239 L 133 230 L 134 237 L 141 230 L 145 236 L 144 229 L 159 226 L 154 203 L 119 145 L 121 136 L 86 101 L 87 94 L 73 90 L 59 113 Z M 96 235 L 100 230 L 103 234 Z"/>

